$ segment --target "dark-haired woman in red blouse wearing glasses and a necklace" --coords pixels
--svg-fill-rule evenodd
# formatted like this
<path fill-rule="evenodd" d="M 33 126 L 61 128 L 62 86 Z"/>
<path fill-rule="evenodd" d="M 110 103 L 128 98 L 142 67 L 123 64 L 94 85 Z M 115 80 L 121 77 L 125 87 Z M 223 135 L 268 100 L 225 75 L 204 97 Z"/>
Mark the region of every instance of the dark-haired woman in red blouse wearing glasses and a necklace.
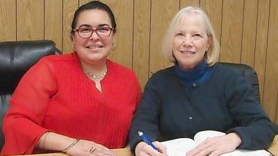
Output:
<path fill-rule="evenodd" d="M 109 148 L 126 145 L 141 89 L 131 69 L 107 59 L 115 32 L 106 4 L 76 10 L 74 52 L 44 57 L 24 75 L 3 120 L 1 155 L 115 155 Z"/>

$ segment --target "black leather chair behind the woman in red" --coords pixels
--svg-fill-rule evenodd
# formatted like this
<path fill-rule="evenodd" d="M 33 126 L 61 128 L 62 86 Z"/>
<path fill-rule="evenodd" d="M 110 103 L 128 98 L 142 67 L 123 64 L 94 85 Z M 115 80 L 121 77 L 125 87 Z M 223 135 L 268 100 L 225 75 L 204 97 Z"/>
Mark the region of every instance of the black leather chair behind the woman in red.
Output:
<path fill-rule="evenodd" d="M 61 51 L 51 40 L 0 42 L 0 149 L 3 146 L 3 116 L 8 110 L 11 94 L 24 73 L 45 55 Z"/>

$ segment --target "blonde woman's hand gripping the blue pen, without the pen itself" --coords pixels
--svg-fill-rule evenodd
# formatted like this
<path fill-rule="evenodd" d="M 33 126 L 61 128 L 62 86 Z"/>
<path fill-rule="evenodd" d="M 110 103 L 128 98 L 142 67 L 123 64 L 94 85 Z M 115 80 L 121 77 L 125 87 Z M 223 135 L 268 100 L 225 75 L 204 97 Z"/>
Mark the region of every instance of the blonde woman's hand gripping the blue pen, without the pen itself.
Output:
<path fill-rule="evenodd" d="M 149 146 L 145 142 L 140 142 L 137 144 L 137 146 L 135 148 L 135 155 L 136 156 L 147 156 L 147 155 L 166 156 L 167 155 L 166 147 L 163 146 L 163 144 L 161 144 L 158 141 L 154 141 L 152 144 L 154 144 L 154 146 L 156 146 L 156 148 L 158 148 L 158 150 L 160 150 L 160 152 L 158 152 L 157 150 L 154 150 L 154 148 L 152 148 L 152 146 Z"/>

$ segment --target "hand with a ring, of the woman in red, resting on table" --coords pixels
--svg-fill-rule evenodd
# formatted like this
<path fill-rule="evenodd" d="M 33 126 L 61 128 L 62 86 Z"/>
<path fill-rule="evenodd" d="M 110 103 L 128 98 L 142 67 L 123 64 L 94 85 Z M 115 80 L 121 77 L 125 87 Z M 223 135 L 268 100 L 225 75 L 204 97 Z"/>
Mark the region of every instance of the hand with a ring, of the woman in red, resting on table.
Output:
<path fill-rule="evenodd" d="M 73 156 L 115 156 L 115 152 L 101 144 L 97 144 L 93 141 L 80 140 L 77 144 L 72 146 L 69 150 L 66 151 L 68 155 Z"/>

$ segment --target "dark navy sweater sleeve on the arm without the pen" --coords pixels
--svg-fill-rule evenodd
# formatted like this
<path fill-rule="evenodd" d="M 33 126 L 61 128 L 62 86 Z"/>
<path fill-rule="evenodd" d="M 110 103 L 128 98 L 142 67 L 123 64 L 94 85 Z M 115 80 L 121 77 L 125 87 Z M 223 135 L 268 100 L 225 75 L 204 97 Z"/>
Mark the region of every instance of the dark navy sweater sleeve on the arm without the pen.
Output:
<path fill-rule="evenodd" d="M 227 131 L 236 132 L 242 144 L 238 148 L 258 150 L 270 146 L 275 137 L 275 128 L 252 95 L 251 85 L 236 73 L 224 85 L 225 98 L 236 127 Z"/>

